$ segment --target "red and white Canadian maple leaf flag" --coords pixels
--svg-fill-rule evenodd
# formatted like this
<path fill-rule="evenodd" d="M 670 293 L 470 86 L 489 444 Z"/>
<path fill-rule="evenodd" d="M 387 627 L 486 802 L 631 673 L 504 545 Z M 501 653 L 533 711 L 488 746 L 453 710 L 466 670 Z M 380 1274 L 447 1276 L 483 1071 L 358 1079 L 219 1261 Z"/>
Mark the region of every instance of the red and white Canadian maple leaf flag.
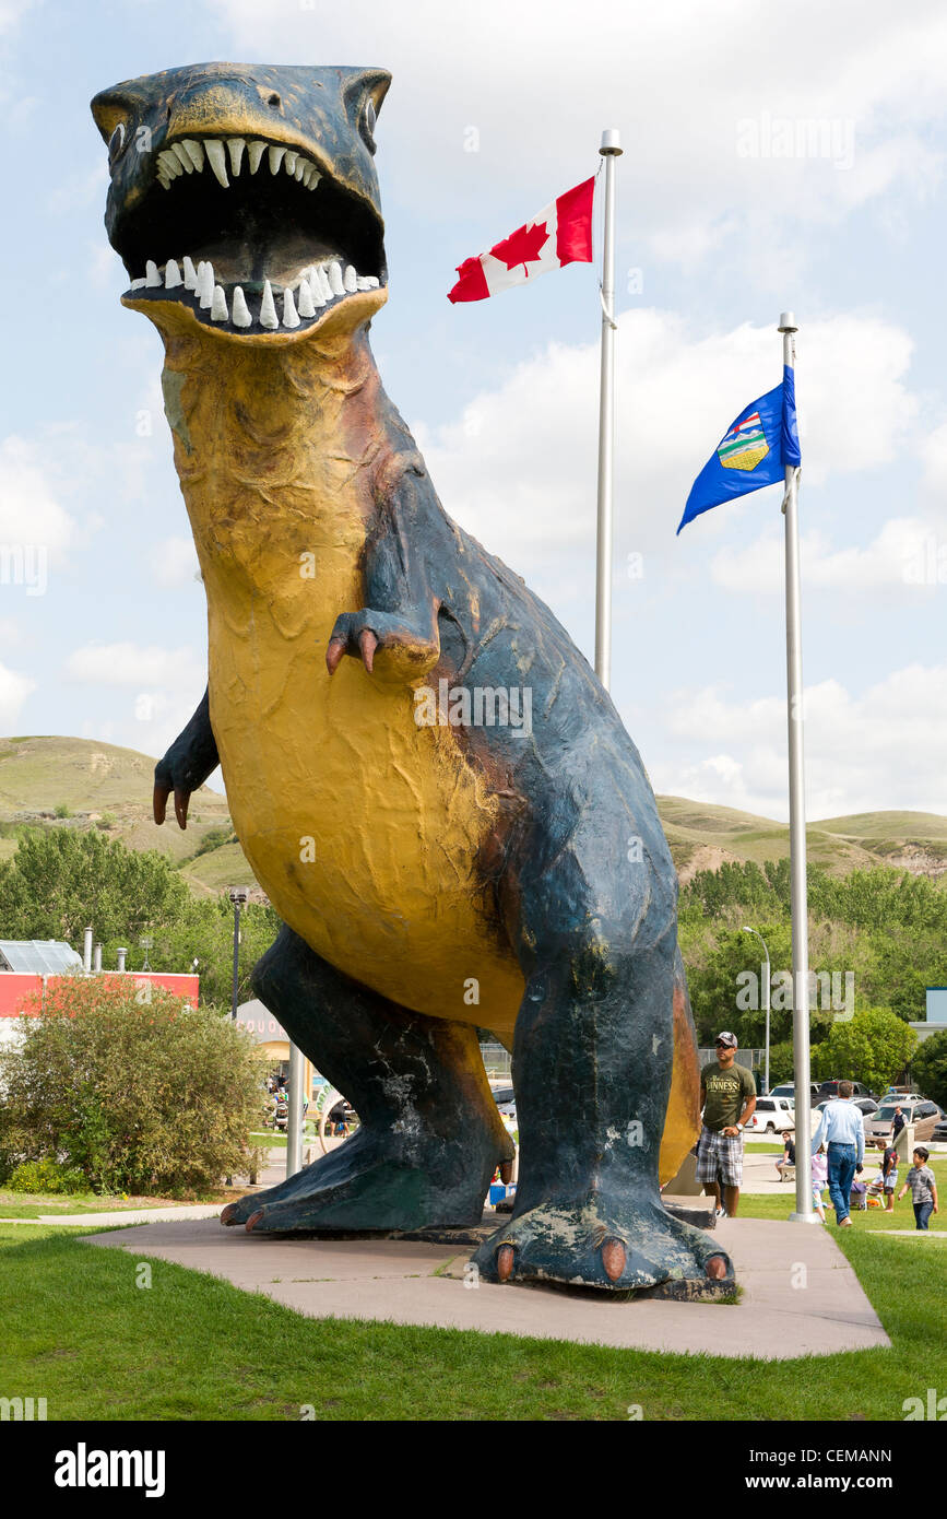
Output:
<path fill-rule="evenodd" d="M 525 226 L 495 243 L 489 254 L 464 258 L 448 301 L 486 301 L 489 295 L 525 284 L 546 269 L 592 263 L 592 197 L 595 176 L 557 196 Z"/>

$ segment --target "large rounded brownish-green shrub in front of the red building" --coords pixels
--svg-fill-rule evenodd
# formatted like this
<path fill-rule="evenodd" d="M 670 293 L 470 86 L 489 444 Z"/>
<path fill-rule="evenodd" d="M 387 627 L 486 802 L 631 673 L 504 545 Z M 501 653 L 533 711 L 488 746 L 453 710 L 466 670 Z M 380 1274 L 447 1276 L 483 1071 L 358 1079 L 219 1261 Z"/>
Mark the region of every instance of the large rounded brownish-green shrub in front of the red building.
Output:
<path fill-rule="evenodd" d="M 64 977 L 0 1051 L 0 1164 L 59 1162 L 99 1192 L 194 1195 L 246 1171 L 249 1034 L 147 983 Z"/>

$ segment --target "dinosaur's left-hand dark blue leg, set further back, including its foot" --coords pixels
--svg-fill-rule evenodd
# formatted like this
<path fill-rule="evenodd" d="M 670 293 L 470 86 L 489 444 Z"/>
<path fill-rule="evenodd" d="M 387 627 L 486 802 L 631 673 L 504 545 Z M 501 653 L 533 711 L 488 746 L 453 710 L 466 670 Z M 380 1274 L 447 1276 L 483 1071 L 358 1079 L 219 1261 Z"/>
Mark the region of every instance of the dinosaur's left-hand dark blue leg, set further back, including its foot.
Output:
<path fill-rule="evenodd" d="M 231 1203 L 222 1221 L 253 1233 L 480 1223 L 513 1144 L 475 1030 L 389 1003 L 290 928 L 256 965 L 253 989 L 361 1126 L 296 1176 Z"/>

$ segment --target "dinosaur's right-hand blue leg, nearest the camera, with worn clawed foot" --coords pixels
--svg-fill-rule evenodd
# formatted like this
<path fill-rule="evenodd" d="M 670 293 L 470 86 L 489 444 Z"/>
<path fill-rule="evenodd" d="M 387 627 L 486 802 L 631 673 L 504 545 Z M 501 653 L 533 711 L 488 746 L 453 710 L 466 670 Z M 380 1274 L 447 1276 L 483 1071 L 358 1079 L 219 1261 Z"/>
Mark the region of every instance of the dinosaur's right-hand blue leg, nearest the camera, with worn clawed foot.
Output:
<path fill-rule="evenodd" d="M 493 1282 L 719 1291 L 733 1282 L 728 1258 L 671 1217 L 659 1191 L 674 1062 L 674 878 L 669 860 L 645 855 L 634 876 L 621 854 L 610 858 L 628 828 L 606 811 L 584 813 L 548 848 L 546 867 L 518 880 L 519 1186 L 510 1221 L 474 1261 Z"/>

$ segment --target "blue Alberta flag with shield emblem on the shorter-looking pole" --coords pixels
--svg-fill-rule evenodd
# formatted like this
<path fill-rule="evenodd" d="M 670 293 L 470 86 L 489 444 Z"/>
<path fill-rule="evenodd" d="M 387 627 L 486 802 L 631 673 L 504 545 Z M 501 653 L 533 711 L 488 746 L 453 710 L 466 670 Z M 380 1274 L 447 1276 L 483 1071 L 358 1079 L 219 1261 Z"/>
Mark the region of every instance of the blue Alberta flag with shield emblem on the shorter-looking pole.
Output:
<path fill-rule="evenodd" d="M 721 437 L 716 453 L 704 465 L 691 486 L 678 533 L 701 512 L 721 501 L 730 501 L 763 485 L 776 485 L 786 474 L 786 465 L 798 465 L 798 428 L 795 422 L 795 377 L 783 368 L 783 383 L 768 390 L 759 401 L 744 407 L 736 422 Z"/>

